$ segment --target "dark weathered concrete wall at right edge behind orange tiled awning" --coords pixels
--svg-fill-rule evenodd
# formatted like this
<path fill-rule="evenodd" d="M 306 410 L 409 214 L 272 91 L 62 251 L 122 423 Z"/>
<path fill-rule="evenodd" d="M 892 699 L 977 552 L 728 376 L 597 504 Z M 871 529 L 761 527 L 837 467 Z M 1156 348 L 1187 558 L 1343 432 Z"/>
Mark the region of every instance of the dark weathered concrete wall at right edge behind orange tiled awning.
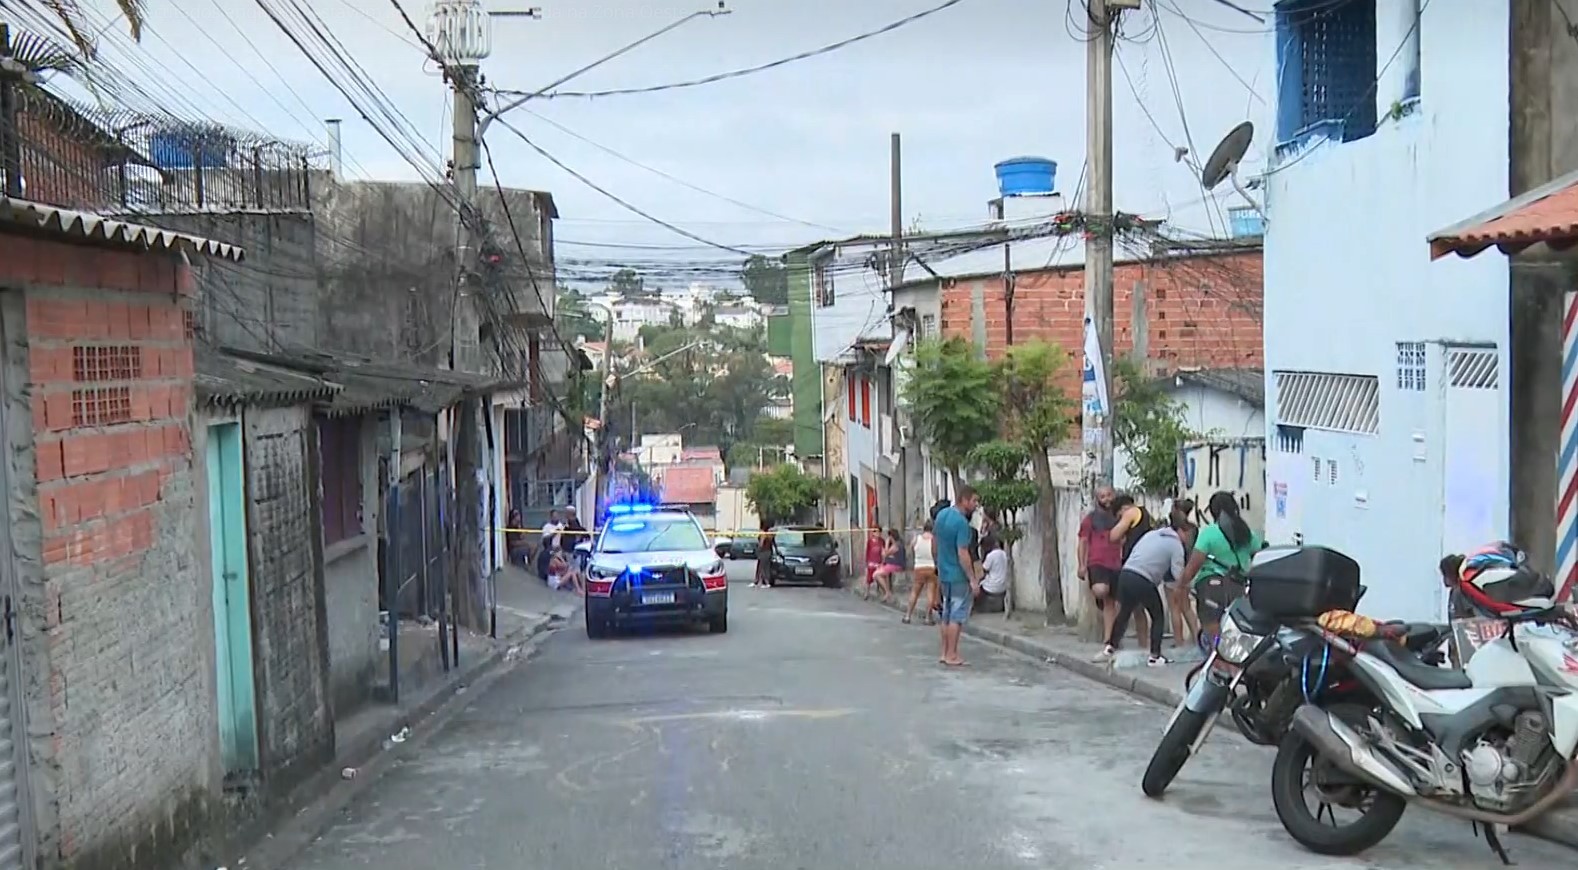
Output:
<path fill-rule="evenodd" d="M 1507 194 L 1578 169 L 1578 0 L 1510 3 L 1510 139 Z M 1494 205 L 1486 201 L 1480 208 Z M 1458 219 L 1477 213 L 1463 213 Z M 1501 259 L 1485 251 L 1482 259 Z M 1561 300 L 1578 286 L 1570 267 L 1539 253 L 1512 261 L 1512 534 L 1535 564 L 1554 570 L 1556 466 L 1561 434 Z"/>

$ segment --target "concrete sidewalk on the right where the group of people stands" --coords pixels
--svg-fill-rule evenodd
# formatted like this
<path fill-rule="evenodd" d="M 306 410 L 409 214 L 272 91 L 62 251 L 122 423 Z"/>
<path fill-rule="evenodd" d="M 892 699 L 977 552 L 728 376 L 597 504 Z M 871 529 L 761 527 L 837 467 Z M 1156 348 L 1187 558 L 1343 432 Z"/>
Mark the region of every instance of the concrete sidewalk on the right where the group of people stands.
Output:
<path fill-rule="evenodd" d="M 849 589 L 858 595 L 858 579 L 849 581 Z M 907 603 L 909 586 L 904 584 L 903 592 L 895 587 L 893 595 L 896 600 Z M 884 606 L 895 611 L 899 609 L 893 605 Z M 1163 654 L 1172 658 L 1172 663 L 1161 668 L 1146 666 L 1144 654 L 1131 649 L 1133 628 L 1130 628 L 1130 636 L 1125 638 L 1125 644 L 1130 649 L 1120 652 L 1112 663 L 1097 663 L 1094 658 L 1100 652 L 1101 644 L 1081 641 L 1076 630 L 1070 625 L 1041 625 L 1040 614 L 1030 613 L 1015 614 L 1011 619 L 1000 613 L 975 614 L 964 624 L 964 633 L 1030 655 L 1048 665 L 1057 665 L 1114 688 L 1122 688 L 1166 707 L 1176 707 L 1182 703 L 1184 676 L 1201 660 L 1201 654 L 1196 649 L 1163 647 Z M 1229 726 L 1228 731 L 1232 731 L 1232 728 Z M 1218 729 L 1217 733 L 1223 731 Z M 1578 849 L 1578 796 L 1570 796 L 1557 808 L 1524 826 L 1524 832 Z"/>

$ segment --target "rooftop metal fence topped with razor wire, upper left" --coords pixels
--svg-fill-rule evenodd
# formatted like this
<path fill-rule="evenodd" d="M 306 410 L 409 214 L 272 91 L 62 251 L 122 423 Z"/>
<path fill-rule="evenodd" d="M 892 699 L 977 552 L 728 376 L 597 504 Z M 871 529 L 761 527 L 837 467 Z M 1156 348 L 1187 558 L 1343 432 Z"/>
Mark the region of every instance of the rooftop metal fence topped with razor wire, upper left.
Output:
<path fill-rule="evenodd" d="M 311 207 L 323 152 L 215 123 L 104 112 L 39 88 L 0 117 L 0 153 L 16 155 L 13 193 L 35 202 L 125 215 Z M 8 175 L 14 167 L 8 161 Z"/>

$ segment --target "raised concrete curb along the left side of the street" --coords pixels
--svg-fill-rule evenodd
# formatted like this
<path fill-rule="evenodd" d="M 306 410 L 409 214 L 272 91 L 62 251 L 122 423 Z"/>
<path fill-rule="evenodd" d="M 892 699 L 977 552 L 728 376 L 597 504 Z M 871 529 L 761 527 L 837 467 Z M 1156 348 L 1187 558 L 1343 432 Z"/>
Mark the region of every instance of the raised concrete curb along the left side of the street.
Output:
<path fill-rule="evenodd" d="M 552 616 L 541 616 L 525 624 L 518 632 L 500 638 L 494 647 L 477 657 L 475 662 L 462 663 L 461 671 L 448 684 L 432 695 L 407 709 L 390 709 L 377 728 L 368 728 L 363 736 L 339 744 L 335 761 L 325 769 L 308 777 L 284 799 L 273 807 L 262 810 L 249 824 L 238 831 L 230 831 L 221 842 L 199 853 L 191 867 L 286 867 L 317 840 L 335 823 L 336 813 L 349 805 L 357 796 L 368 789 L 383 771 L 406 752 L 423 745 L 432 737 L 437 726 L 417 728 L 418 725 L 440 723 L 459 709 L 459 696 L 473 685 L 486 685 L 495 668 L 522 646 L 532 644 L 548 633 L 555 624 L 563 624 Z M 502 671 L 500 671 L 502 673 Z M 383 748 L 388 734 L 402 728 L 412 728 L 413 737 Z M 344 767 L 353 767 L 357 775 L 346 780 L 341 775 Z M 224 856 L 218 857 L 216 856 Z"/>

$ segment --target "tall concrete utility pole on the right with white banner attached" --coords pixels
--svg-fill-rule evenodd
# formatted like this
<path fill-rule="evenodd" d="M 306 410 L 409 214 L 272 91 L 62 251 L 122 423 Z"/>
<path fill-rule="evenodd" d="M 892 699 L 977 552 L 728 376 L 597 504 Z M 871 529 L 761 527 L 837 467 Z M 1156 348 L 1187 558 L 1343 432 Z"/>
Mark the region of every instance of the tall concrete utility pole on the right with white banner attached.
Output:
<path fill-rule="evenodd" d="M 1084 316 L 1087 332 L 1095 328 L 1094 396 L 1084 396 L 1084 467 L 1081 497 L 1089 502 L 1095 488 L 1112 482 L 1112 32 L 1122 9 L 1138 8 L 1139 0 L 1087 0 L 1086 36 L 1086 159 L 1090 191 L 1086 216 L 1095 224 L 1086 242 Z M 1092 351 L 1086 339 L 1087 354 Z M 1089 504 L 1086 504 L 1089 508 Z"/>

